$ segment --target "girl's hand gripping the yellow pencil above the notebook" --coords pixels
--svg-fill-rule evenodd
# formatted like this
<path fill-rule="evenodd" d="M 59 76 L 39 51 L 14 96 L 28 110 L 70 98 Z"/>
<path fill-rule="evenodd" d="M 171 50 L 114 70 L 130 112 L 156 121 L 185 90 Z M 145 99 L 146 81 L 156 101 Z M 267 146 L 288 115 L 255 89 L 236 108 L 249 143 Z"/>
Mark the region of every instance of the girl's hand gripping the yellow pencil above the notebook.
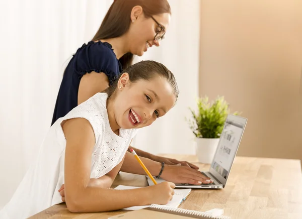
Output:
<path fill-rule="evenodd" d="M 148 204 L 167 204 L 174 195 L 175 184 L 173 182 L 162 182 L 157 185 L 147 186 L 149 195 Z"/>

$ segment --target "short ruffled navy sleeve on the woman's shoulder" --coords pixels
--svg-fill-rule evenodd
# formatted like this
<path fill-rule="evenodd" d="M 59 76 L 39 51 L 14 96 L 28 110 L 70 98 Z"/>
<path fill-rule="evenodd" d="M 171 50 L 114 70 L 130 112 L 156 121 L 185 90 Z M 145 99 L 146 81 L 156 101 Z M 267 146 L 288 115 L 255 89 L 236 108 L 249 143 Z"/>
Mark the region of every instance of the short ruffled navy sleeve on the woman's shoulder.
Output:
<path fill-rule="evenodd" d="M 118 78 L 121 66 L 109 43 L 91 41 L 73 55 L 73 69 L 79 78 L 92 71 L 103 72 L 111 85 Z"/>

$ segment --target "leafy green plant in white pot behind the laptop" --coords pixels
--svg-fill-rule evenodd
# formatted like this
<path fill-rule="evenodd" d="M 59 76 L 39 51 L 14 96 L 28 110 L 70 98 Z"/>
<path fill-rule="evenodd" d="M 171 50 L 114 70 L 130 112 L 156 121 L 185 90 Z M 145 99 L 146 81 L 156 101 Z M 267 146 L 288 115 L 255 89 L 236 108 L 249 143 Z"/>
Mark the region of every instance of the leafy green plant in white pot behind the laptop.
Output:
<path fill-rule="evenodd" d="M 205 96 L 197 99 L 197 106 L 196 113 L 190 108 L 193 119 L 189 120 L 189 125 L 196 137 L 199 162 L 209 164 L 217 149 L 226 117 L 230 114 L 229 104 L 223 96 L 216 97 L 211 103 Z"/>

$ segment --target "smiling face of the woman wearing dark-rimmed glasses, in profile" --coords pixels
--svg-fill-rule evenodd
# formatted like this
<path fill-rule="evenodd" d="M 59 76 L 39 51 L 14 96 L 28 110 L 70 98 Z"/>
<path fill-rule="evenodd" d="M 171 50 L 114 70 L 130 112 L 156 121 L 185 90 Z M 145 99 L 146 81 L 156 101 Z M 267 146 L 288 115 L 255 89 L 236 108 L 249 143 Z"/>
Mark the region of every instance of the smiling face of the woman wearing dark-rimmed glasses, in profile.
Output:
<path fill-rule="evenodd" d="M 163 40 L 168 29 L 171 15 L 164 13 L 145 18 L 143 13 L 140 15 L 134 13 L 131 14 L 131 19 L 128 32 L 130 52 L 142 56 L 149 47 L 160 46 L 160 41 Z"/>

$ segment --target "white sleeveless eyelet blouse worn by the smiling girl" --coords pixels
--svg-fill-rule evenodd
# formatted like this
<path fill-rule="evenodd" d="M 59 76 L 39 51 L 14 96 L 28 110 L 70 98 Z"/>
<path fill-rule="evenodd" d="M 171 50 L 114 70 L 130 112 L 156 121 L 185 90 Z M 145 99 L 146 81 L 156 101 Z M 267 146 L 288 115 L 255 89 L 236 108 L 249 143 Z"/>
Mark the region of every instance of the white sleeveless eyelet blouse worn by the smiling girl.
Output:
<path fill-rule="evenodd" d="M 106 93 L 97 93 L 51 126 L 36 162 L 27 171 L 10 202 L 0 210 L 0 218 L 27 218 L 62 202 L 57 190 L 64 183 L 66 140 L 61 128 L 64 120 L 85 118 L 92 125 L 96 143 L 90 178 L 105 175 L 121 162 L 137 130 L 120 129 L 119 136 L 116 135 L 109 124 L 106 100 Z"/>

